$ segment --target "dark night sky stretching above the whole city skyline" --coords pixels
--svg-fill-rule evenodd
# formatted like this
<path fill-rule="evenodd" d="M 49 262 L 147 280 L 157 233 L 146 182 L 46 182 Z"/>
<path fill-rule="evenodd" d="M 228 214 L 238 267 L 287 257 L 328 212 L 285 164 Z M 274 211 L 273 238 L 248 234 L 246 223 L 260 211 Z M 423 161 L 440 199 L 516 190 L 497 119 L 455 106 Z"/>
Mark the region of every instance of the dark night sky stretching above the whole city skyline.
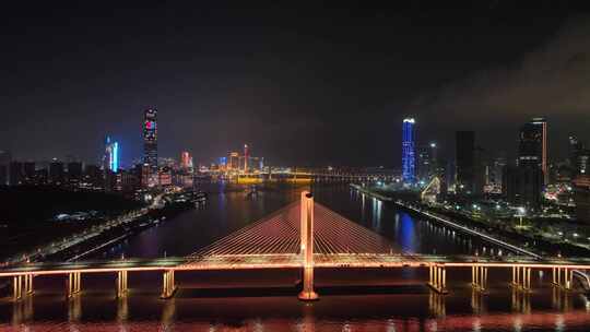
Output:
<path fill-rule="evenodd" d="M 448 156 L 456 130 L 514 155 L 533 116 L 550 158 L 590 140 L 590 16 L 573 9 L 21 2 L 0 13 L 0 150 L 21 159 L 96 162 L 110 134 L 129 165 L 149 106 L 160 155 L 197 163 L 249 143 L 274 165 L 399 166 L 405 116 Z"/>

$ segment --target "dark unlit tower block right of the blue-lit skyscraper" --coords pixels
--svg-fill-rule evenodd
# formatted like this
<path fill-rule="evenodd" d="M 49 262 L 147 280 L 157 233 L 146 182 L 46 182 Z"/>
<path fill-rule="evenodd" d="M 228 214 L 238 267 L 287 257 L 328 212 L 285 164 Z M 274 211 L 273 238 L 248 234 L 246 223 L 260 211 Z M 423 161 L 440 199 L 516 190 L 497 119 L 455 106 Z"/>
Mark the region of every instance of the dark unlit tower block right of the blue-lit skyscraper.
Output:
<path fill-rule="evenodd" d="M 456 191 L 473 193 L 475 187 L 475 132 L 456 133 Z"/>

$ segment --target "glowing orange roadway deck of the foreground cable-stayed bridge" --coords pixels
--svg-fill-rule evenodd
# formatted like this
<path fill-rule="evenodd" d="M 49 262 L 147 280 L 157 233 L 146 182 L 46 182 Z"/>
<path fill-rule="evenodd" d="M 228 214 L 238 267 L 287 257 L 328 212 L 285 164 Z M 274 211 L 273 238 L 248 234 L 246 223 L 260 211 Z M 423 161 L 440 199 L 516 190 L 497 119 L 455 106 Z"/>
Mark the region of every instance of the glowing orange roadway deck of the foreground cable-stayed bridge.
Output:
<path fill-rule="evenodd" d="M 527 257 L 475 257 L 475 256 L 428 256 L 387 253 L 337 253 L 314 254 L 315 268 L 420 268 L 444 265 L 447 268 L 472 266 L 511 268 L 514 265 L 550 269 L 590 269 L 590 259 L 534 260 Z M 0 276 L 22 274 L 50 275 L 71 272 L 106 273 L 117 271 L 206 271 L 248 269 L 299 269 L 303 259 L 298 254 L 220 254 L 202 258 L 166 258 L 154 260 L 126 259 L 116 261 L 44 262 L 28 263 L 0 269 Z"/>

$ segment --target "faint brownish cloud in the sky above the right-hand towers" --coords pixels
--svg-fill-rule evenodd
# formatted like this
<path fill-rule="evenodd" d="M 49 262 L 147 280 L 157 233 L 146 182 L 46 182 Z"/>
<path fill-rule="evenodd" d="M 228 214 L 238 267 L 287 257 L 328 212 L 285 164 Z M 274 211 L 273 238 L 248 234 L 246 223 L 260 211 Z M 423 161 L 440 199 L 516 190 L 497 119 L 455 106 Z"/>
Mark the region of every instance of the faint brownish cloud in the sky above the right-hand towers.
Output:
<path fill-rule="evenodd" d="M 566 152 L 574 133 L 590 139 L 590 17 L 578 16 L 548 42 L 504 67 L 471 73 L 413 103 L 423 116 L 444 115 L 445 128 L 473 128 L 489 147 L 514 150 L 528 118 L 550 121 L 552 151 Z M 459 129 L 459 128 L 458 128 Z"/>

